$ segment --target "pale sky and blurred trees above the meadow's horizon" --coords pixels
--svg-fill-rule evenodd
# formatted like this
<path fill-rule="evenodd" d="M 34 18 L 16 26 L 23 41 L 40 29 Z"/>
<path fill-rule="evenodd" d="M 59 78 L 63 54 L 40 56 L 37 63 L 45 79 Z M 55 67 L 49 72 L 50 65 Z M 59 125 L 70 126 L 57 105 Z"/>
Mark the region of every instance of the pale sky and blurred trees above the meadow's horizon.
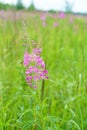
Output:
<path fill-rule="evenodd" d="M 0 0 L 0 9 L 64 11 L 87 13 L 87 0 Z"/>

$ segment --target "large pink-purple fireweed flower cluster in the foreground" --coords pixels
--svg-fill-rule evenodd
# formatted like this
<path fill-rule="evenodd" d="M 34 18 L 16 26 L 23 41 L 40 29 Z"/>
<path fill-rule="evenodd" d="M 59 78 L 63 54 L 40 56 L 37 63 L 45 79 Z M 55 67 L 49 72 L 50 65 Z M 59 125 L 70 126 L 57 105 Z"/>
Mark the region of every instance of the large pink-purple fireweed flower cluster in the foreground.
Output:
<path fill-rule="evenodd" d="M 31 54 L 27 51 L 24 54 L 26 82 L 29 86 L 34 88 L 37 88 L 39 80 L 48 78 L 48 71 L 45 70 L 45 63 L 40 57 L 41 51 L 41 48 L 34 48 Z"/>

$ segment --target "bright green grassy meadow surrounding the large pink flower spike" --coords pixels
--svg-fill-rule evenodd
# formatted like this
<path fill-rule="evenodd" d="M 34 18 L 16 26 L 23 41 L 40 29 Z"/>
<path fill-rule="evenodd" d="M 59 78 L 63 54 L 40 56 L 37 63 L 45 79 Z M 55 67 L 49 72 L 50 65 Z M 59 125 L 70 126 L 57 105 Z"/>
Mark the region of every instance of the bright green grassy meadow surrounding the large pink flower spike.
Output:
<path fill-rule="evenodd" d="M 37 88 L 23 65 L 32 43 L 48 70 Z M 0 11 L 0 130 L 87 130 L 87 16 Z"/>

